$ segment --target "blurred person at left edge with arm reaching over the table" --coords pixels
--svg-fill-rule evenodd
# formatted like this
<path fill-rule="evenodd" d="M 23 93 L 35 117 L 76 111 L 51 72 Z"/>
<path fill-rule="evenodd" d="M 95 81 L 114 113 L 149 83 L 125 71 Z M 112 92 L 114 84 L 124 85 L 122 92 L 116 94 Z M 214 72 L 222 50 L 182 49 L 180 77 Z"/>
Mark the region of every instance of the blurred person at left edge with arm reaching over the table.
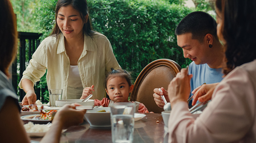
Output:
<path fill-rule="evenodd" d="M 0 0 L 0 142 L 30 143 L 20 120 L 18 97 L 8 79 L 8 68 L 16 57 L 18 32 L 16 17 L 9 0 Z M 66 105 L 59 110 L 42 143 L 59 143 L 62 129 L 83 122 L 86 110 L 77 110 L 78 104 Z"/>

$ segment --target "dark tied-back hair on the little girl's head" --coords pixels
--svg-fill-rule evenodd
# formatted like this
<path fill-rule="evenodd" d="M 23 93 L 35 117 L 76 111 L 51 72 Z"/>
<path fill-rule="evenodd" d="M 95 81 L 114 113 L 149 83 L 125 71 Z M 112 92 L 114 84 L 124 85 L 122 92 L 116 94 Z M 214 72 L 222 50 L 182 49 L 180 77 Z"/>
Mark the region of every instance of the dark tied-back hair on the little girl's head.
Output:
<path fill-rule="evenodd" d="M 113 69 L 113 68 L 111 68 L 111 72 L 106 74 L 105 88 L 106 88 L 106 82 L 109 79 L 112 79 L 116 76 L 125 78 L 125 80 L 128 82 L 128 85 L 131 86 L 131 74 L 129 72 L 127 72 L 126 70 L 123 70 L 123 69 Z"/>

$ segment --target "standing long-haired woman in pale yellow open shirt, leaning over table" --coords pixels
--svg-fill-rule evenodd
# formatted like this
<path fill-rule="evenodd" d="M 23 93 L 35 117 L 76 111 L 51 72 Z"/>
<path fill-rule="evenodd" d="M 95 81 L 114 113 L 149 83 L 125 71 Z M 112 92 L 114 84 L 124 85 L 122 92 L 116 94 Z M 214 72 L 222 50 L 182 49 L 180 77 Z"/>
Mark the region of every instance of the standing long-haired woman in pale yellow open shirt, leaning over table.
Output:
<path fill-rule="evenodd" d="M 46 69 L 48 89 L 63 89 L 62 99 L 79 99 L 84 88 L 94 85 L 92 98 L 101 100 L 111 68 L 119 69 L 119 64 L 106 36 L 92 30 L 87 1 L 58 0 L 53 32 L 38 46 L 20 80 L 26 92 L 22 104 L 35 103 L 33 86 Z"/>

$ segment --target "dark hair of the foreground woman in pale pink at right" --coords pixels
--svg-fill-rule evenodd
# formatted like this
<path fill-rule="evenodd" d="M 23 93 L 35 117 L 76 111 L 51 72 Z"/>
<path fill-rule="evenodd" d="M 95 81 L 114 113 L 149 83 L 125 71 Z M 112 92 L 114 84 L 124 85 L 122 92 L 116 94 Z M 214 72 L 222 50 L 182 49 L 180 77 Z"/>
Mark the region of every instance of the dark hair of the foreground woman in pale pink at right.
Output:
<path fill-rule="evenodd" d="M 223 73 L 256 59 L 256 0 L 216 0 L 225 40 Z"/>

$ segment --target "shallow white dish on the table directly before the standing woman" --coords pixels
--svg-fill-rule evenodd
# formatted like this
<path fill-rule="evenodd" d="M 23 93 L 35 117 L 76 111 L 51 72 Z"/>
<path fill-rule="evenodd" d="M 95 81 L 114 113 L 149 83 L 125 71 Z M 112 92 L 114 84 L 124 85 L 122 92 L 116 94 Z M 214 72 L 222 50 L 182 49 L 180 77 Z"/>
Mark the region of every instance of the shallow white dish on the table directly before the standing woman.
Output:
<path fill-rule="evenodd" d="M 56 106 L 64 106 L 65 104 L 72 104 L 72 103 L 79 103 L 82 106 L 84 105 L 90 105 L 94 106 L 94 100 L 89 99 L 87 102 L 81 102 L 83 99 L 67 99 L 67 100 L 57 100 L 55 102 Z"/>

